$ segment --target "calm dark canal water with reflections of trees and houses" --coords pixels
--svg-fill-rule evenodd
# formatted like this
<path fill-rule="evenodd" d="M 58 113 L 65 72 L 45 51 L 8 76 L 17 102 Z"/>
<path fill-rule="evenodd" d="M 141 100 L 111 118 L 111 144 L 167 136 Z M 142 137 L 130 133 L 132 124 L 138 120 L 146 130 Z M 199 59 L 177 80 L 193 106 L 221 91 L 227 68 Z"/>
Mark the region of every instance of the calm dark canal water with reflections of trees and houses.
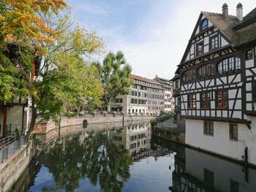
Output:
<path fill-rule="evenodd" d="M 256 170 L 151 135 L 150 123 L 53 139 L 13 191 L 256 191 Z"/>

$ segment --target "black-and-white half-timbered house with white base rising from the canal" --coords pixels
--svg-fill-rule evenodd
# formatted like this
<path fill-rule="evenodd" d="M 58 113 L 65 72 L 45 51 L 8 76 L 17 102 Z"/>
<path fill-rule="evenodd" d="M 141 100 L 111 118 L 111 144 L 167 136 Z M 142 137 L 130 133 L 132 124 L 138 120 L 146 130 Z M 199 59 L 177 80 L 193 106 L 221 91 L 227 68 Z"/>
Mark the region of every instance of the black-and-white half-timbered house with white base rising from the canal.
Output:
<path fill-rule="evenodd" d="M 187 145 L 256 165 L 256 8 L 200 12 L 172 81 Z"/>

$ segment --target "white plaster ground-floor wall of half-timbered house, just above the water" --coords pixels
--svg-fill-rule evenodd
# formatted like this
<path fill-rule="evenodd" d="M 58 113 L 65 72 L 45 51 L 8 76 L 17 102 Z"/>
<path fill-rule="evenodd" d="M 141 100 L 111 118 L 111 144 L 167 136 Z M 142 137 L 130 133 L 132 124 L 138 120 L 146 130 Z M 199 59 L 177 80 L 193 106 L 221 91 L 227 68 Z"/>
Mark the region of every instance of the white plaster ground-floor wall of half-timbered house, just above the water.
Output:
<path fill-rule="evenodd" d="M 203 134 L 203 120 L 187 119 L 185 142 L 240 161 L 247 146 L 249 163 L 256 165 L 256 118 L 252 122 L 251 130 L 245 124 L 238 123 L 238 141 L 233 141 L 229 137 L 229 123 L 214 121 L 214 136 L 208 136 Z"/>

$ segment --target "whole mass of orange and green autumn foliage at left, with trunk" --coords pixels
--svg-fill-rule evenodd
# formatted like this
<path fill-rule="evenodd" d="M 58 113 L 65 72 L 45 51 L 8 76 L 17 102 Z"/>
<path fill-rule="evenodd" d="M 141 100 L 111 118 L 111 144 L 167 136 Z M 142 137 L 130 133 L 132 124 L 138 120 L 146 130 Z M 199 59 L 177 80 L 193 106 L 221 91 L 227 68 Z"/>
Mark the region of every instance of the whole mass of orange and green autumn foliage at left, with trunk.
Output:
<path fill-rule="evenodd" d="M 102 39 L 74 26 L 69 10 L 58 15 L 64 8 L 63 0 L 0 3 L 0 101 L 30 96 L 31 128 L 38 117 L 59 122 L 70 107 L 93 108 L 102 98 L 97 68 L 88 64 Z"/>

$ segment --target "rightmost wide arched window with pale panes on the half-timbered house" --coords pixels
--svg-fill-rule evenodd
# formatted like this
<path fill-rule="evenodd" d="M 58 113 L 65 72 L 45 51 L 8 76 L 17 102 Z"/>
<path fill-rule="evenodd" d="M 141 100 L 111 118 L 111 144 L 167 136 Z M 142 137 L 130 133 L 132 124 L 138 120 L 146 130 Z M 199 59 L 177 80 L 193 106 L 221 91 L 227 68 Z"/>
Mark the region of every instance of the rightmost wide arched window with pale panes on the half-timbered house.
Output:
<path fill-rule="evenodd" d="M 225 58 L 218 66 L 218 74 L 227 74 L 228 72 L 236 72 L 241 70 L 241 58 Z"/>

